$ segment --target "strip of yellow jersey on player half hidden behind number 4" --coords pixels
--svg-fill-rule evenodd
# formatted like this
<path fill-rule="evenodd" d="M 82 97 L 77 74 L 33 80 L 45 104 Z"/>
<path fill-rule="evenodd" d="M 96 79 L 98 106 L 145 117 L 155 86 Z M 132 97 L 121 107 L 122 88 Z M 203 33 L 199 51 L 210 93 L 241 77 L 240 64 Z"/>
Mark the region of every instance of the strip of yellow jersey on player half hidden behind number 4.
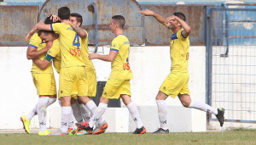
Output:
<path fill-rule="evenodd" d="M 85 31 L 85 30 L 84 30 Z M 85 63 L 85 70 L 95 70 L 94 65 L 92 64 L 92 61 L 89 59 L 89 51 L 88 51 L 88 33 L 85 31 L 87 34 L 86 38 L 82 38 L 82 45 L 84 46 L 84 49 L 82 49 L 82 58 L 84 59 Z"/>

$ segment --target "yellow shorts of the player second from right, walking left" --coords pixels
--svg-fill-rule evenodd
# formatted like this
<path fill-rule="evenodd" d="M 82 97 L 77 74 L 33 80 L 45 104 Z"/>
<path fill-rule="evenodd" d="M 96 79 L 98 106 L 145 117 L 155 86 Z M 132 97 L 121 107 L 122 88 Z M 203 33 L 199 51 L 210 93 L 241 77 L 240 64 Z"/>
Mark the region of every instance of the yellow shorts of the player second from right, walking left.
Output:
<path fill-rule="evenodd" d="M 102 97 L 118 99 L 123 94 L 131 96 L 130 80 L 108 79 Z"/>

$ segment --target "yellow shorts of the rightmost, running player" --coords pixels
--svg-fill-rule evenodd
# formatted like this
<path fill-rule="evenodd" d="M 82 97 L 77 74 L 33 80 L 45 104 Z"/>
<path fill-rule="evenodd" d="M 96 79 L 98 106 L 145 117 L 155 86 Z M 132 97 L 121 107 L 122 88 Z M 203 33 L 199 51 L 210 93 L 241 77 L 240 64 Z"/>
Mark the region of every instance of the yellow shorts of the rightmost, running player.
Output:
<path fill-rule="evenodd" d="M 172 98 L 176 98 L 178 94 L 189 95 L 189 73 L 171 72 L 159 90 Z"/>

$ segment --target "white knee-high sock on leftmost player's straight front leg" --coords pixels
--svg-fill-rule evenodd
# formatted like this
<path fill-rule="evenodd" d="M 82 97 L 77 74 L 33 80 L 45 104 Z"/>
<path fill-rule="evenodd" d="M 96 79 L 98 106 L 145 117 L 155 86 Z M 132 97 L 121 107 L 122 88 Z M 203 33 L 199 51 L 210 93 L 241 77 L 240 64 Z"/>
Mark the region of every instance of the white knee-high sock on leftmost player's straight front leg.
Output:
<path fill-rule="evenodd" d="M 40 131 L 44 132 L 46 130 L 46 108 L 48 97 L 38 98 L 37 112 L 38 112 L 38 120 L 40 125 Z"/>

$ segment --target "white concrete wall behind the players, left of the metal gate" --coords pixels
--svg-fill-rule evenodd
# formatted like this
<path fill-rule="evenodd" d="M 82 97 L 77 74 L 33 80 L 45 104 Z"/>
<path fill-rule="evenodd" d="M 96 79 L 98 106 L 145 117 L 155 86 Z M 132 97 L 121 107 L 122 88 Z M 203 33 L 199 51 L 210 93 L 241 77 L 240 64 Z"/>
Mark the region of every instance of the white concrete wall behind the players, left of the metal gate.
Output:
<path fill-rule="evenodd" d="M 90 47 L 90 51 L 93 48 Z M 109 53 L 109 47 L 99 48 L 99 53 Z M 0 47 L 0 129 L 20 129 L 20 116 L 34 107 L 38 101 L 36 88 L 30 73 L 32 61 L 26 59 L 26 47 Z M 170 73 L 169 47 L 131 47 L 131 98 L 137 103 L 143 124 L 148 131 L 159 127 L 155 96 L 166 75 Z M 205 47 L 190 47 L 189 89 L 191 98 L 205 102 Z M 94 60 L 97 81 L 107 81 L 111 72 L 110 63 Z M 55 78 L 58 86 L 58 77 Z M 168 125 L 170 131 L 206 131 L 206 113 L 185 109 L 178 98 L 167 98 Z M 108 108 L 103 117 L 108 121 L 108 131 L 134 131 L 136 126 L 128 115 L 128 109 Z M 48 109 L 47 125 L 58 128 L 61 124 L 61 108 L 54 103 Z M 38 116 L 32 119 L 31 127 L 38 127 Z"/>

